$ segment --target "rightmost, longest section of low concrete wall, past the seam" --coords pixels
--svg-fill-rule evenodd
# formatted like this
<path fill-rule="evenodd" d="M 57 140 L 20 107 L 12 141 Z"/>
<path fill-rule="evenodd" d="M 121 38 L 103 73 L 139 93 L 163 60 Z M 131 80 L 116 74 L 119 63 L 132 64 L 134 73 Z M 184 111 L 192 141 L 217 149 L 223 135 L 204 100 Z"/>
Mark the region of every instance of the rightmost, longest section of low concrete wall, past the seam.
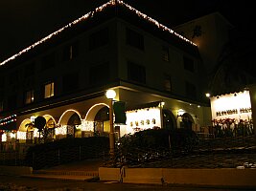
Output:
<path fill-rule="evenodd" d="M 163 179 L 173 184 L 256 187 L 255 169 L 163 169 Z"/>

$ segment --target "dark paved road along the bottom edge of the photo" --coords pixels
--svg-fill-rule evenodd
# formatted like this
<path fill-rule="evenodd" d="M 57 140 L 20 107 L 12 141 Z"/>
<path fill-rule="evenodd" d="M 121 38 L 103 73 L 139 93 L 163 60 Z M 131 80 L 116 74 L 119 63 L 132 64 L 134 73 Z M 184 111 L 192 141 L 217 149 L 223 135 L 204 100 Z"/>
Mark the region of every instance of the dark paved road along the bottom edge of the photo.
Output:
<path fill-rule="evenodd" d="M 48 180 L 0 175 L 0 191 L 242 191 L 250 189 L 181 187 L 172 185 L 126 184 L 117 182 L 88 182 L 85 180 Z"/>

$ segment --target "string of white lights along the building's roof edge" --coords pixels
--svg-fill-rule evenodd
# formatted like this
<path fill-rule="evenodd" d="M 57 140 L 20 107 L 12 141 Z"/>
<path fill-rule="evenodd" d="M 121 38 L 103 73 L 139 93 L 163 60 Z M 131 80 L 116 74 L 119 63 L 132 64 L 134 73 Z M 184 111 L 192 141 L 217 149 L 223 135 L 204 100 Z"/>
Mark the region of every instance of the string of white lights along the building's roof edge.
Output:
<path fill-rule="evenodd" d="M 129 6 L 128 4 L 124 3 L 123 1 L 121 1 L 121 0 L 110 0 L 109 2 L 105 3 L 104 5 L 102 5 L 102 6 L 98 7 L 98 8 L 96 8 L 95 11 L 89 11 L 88 13 L 82 15 L 80 18 L 76 19 L 75 21 L 73 21 L 73 22 L 69 23 L 68 25 L 66 25 L 66 26 L 64 26 L 64 27 L 62 27 L 62 28 L 60 28 L 58 31 L 49 34 L 48 36 L 46 36 L 46 37 L 42 38 L 41 40 L 35 42 L 33 45 L 31 45 L 31 46 L 27 47 L 26 49 L 20 51 L 19 53 L 13 54 L 13 55 L 12 55 L 11 57 L 9 57 L 8 59 L 2 61 L 2 62 L 0 63 L 0 66 L 3 66 L 3 65 L 5 65 L 6 63 L 8 63 L 8 62 L 14 60 L 16 57 L 18 57 L 19 55 L 21 55 L 21 54 L 23 54 L 23 53 L 29 52 L 30 50 L 32 50 L 33 48 L 35 48 L 37 45 L 42 44 L 42 43 L 46 42 L 47 40 L 51 39 L 52 37 L 58 35 L 58 33 L 63 32 L 64 30 L 73 27 L 74 25 L 80 23 L 82 20 L 86 20 L 86 19 L 88 19 L 88 18 L 93 17 L 96 12 L 104 11 L 105 8 L 107 8 L 107 7 L 109 7 L 109 6 L 116 6 L 116 5 L 118 5 L 118 4 L 125 6 L 125 7 L 128 8 L 128 10 L 130 10 L 130 11 L 134 11 L 138 16 L 140 16 L 140 17 L 142 17 L 142 18 L 144 18 L 144 19 L 149 20 L 151 23 L 153 23 L 153 24 L 154 24 L 155 26 L 157 26 L 159 29 L 161 29 L 161 30 L 163 30 L 163 31 L 166 31 L 166 32 L 173 33 L 173 34 L 175 34 L 177 37 L 181 38 L 182 40 L 184 40 L 184 41 L 186 41 L 186 42 L 189 42 L 189 43 L 191 43 L 191 44 L 194 45 L 194 46 L 197 46 L 195 43 L 193 43 L 192 41 L 188 40 L 188 39 L 185 38 L 184 36 L 182 36 L 182 35 L 180 35 L 180 34 L 174 32 L 173 30 L 169 29 L 168 27 L 166 27 L 166 26 L 160 24 L 158 21 L 152 19 L 150 16 L 148 16 L 148 15 L 142 13 L 141 11 L 137 11 L 136 9 L 132 8 L 131 6 Z"/>

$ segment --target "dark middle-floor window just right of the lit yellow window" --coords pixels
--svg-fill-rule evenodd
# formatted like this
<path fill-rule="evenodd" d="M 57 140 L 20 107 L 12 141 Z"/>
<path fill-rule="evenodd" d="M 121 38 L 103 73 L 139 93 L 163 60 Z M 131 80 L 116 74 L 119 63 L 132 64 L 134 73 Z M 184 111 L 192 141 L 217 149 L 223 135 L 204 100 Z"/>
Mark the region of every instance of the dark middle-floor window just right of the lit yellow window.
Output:
<path fill-rule="evenodd" d="M 65 74 L 62 77 L 63 93 L 69 93 L 79 89 L 79 74 Z"/>

